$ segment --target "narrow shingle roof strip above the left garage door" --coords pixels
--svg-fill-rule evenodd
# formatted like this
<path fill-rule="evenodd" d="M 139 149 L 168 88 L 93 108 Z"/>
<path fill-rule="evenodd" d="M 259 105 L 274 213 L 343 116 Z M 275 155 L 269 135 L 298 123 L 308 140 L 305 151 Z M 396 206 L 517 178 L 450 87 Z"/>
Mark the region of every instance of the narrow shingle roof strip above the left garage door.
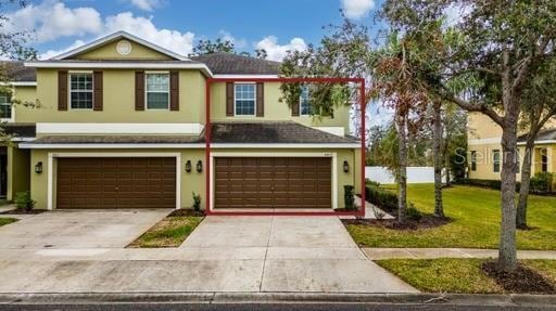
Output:
<path fill-rule="evenodd" d="M 188 144 L 200 143 L 198 135 L 43 135 L 35 144 Z"/>

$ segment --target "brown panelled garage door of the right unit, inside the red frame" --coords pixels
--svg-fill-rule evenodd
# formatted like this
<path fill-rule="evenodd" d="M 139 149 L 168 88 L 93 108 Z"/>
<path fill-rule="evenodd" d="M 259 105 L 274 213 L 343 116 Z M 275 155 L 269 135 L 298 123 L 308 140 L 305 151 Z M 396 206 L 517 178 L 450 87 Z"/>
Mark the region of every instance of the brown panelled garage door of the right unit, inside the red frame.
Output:
<path fill-rule="evenodd" d="M 215 208 L 331 208 L 331 159 L 215 158 Z"/>

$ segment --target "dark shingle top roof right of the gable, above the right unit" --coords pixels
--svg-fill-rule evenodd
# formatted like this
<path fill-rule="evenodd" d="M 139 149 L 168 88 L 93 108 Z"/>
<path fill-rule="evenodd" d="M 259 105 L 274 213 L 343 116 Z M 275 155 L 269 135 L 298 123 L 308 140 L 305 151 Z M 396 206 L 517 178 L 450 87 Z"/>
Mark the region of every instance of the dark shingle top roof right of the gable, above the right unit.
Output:
<path fill-rule="evenodd" d="M 278 75 L 280 63 L 232 53 L 213 53 L 190 57 L 206 64 L 215 75 Z"/>

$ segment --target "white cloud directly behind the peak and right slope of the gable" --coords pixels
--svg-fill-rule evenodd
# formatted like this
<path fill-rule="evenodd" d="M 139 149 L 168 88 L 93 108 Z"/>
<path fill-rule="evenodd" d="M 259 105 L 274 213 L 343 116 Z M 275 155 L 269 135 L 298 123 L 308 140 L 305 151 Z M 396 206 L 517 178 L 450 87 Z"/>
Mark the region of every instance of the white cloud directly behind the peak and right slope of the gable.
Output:
<path fill-rule="evenodd" d="M 147 18 L 125 12 L 108 16 L 104 24 L 108 34 L 124 30 L 181 55 L 187 55 L 193 49 L 193 33 L 156 28 L 152 16 Z"/>

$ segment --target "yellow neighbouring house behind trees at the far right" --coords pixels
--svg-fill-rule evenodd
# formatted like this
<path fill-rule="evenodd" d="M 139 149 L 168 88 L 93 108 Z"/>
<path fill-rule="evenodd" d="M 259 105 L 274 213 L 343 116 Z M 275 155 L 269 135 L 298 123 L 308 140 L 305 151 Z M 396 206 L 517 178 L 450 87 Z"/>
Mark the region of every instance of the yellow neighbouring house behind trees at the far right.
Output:
<path fill-rule="evenodd" d="M 469 178 L 500 180 L 502 170 L 502 128 L 488 116 L 470 113 L 468 117 Z M 518 138 L 519 171 L 525 155 L 526 133 Z M 556 120 L 549 121 L 535 141 L 532 172 L 556 172 Z"/>

